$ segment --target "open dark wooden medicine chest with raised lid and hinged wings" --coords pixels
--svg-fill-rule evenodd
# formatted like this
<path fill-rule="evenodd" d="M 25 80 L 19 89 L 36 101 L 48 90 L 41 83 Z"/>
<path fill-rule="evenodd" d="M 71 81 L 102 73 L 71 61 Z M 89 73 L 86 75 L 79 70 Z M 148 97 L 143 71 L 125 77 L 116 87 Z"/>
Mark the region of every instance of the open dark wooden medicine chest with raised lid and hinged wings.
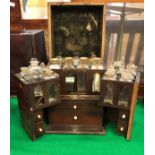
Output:
<path fill-rule="evenodd" d="M 105 10 L 103 2 L 49 2 L 50 57 L 89 57 L 95 53 L 97 57 L 103 58 Z M 40 45 L 36 46 L 38 50 Z M 24 49 L 24 46 L 21 47 Z M 24 55 L 21 57 L 25 58 Z M 39 58 L 43 61 L 42 57 Z M 21 61 L 19 65 L 27 65 L 26 60 L 25 64 Z M 104 126 L 108 121 L 117 122 L 117 132 L 130 139 L 139 76 L 130 84 L 101 79 L 105 70 L 54 71 L 59 74 L 59 79 L 53 81 L 26 85 L 16 78 L 22 125 L 33 140 L 43 133 L 105 134 Z M 96 74 L 100 77 L 97 81 L 100 91 L 93 92 Z M 41 97 L 34 96 L 34 88 L 38 84 L 42 88 Z M 51 84 L 57 86 L 56 100 L 49 100 Z"/>

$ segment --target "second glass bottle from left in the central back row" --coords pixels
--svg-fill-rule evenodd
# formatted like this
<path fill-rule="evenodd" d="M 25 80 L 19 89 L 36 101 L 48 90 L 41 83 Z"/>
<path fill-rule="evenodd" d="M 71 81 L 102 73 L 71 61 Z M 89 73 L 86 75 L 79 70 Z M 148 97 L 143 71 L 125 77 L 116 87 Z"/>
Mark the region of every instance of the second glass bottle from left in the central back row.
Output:
<path fill-rule="evenodd" d="M 74 62 L 72 57 L 66 57 L 63 62 L 63 69 L 74 69 Z"/>

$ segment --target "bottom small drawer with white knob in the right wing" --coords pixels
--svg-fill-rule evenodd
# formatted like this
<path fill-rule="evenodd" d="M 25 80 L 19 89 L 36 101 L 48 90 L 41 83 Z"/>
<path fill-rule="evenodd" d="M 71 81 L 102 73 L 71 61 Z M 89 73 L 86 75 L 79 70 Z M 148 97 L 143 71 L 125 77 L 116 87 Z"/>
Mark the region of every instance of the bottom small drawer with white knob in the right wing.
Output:
<path fill-rule="evenodd" d="M 117 132 L 121 135 L 126 135 L 128 130 L 128 122 L 118 121 Z"/>

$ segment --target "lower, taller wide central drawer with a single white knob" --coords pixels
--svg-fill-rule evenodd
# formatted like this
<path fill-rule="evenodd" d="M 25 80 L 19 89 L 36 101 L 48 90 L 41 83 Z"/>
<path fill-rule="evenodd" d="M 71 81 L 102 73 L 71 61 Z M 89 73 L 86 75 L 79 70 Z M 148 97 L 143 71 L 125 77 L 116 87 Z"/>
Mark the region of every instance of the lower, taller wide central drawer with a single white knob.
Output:
<path fill-rule="evenodd" d="M 48 116 L 49 123 L 53 125 L 102 125 L 102 110 L 54 110 Z"/>

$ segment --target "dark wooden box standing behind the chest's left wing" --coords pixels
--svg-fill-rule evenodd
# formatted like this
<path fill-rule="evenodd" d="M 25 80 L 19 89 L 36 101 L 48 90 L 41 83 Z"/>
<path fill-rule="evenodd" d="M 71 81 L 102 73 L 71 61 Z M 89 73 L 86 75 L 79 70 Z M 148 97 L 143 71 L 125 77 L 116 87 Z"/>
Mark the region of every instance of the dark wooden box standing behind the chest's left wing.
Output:
<path fill-rule="evenodd" d="M 16 94 L 14 74 L 20 67 L 28 66 L 32 57 L 47 63 L 44 32 L 41 30 L 25 30 L 22 33 L 10 34 L 10 90 Z"/>

